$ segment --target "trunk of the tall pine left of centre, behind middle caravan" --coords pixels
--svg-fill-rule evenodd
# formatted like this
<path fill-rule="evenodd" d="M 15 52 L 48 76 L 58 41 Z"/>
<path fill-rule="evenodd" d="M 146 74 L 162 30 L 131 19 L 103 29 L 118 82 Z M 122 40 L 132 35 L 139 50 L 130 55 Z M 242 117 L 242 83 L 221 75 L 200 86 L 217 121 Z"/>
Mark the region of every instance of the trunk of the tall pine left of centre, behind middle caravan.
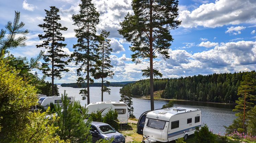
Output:
<path fill-rule="evenodd" d="M 87 13 L 89 13 L 89 8 L 87 8 Z M 87 18 L 89 19 L 89 15 L 87 15 Z M 89 84 L 90 84 L 90 75 L 89 75 L 89 22 L 87 23 L 87 32 L 88 32 L 88 39 L 87 39 L 87 105 L 90 104 L 90 88 L 89 88 Z"/>

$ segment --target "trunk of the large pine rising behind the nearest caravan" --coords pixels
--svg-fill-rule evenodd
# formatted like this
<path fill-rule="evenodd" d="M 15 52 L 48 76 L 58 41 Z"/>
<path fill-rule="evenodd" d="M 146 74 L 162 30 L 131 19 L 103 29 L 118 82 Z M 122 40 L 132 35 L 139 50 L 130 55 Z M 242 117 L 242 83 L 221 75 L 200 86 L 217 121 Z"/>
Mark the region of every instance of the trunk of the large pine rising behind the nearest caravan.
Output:
<path fill-rule="evenodd" d="M 153 0 L 150 0 L 150 36 L 149 36 L 149 51 L 150 51 L 150 105 L 151 111 L 154 110 L 154 81 L 153 81 L 153 38 L 152 38 L 152 4 Z"/>

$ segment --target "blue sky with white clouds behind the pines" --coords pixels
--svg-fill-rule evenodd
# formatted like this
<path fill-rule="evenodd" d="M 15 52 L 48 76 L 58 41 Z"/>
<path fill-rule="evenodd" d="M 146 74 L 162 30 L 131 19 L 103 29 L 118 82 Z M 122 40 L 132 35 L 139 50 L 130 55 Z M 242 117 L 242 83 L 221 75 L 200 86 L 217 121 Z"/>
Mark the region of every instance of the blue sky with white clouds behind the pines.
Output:
<path fill-rule="evenodd" d="M 132 13 L 132 0 L 92 0 L 100 13 L 100 24 L 97 34 L 102 30 L 110 31 L 110 55 L 112 70 L 115 75 L 110 82 L 138 81 L 142 77 L 142 69 L 149 66 L 147 61 L 135 64 L 131 61 L 130 43 L 118 33 L 120 22 L 125 15 Z M 1 0 L 0 1 L 0 29 L 8 21 L 13 21 L 14 11 L 21 12 L 20 21 L 25 23 L 24 29 L 30 31 L 26 35 L 25 47 L 18 47 L 10 51 L 14 56 L 30 59 L 36 57 L 40 50 L 37 44 L 42 43 L 38 34 L 43 34 L 38 24 L 43 24 L 45 9 L 56 6 L 60 9 L 59 21 L 68 28 L 63 32 L 67 46 L 63 48 L 66 54 L 71 54 L 74 37 L 72 14 L 79 13 L 80 0 Z M 212 73 L 234 73 L 252 71 L 256 69 L 256 0 L 180 0 L 178 20 L 182 21 L 177 29 L 170 33 L 174 38 L 168 50 L 170 58 L 164 60 L 158 55 L 159 62 L 154 68 L 163 74 L 163 78 L 206 75 Z M 41 60 L 40 62 L 44 62 Z M 63 72 L 61 79 L 55 83 L 75 83 L 77 80 L 74 62 L 68 66 L 69 72 Z M 39 76 L 42 72 L 37 71 Z M 50 81 L 50 78 L 47 78 Z M 100 82 L 95 80 L 95 82 Z"/>

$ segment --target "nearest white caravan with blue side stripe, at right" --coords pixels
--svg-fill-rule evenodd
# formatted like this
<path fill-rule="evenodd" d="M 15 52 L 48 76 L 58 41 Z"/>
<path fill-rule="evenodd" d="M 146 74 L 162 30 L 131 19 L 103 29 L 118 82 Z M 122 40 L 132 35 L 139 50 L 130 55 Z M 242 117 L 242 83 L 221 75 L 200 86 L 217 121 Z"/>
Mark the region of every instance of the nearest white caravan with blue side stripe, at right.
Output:
<path fill-rule="evenodd" d="M 201 126 L 201 110 L 172 107 L 150 111 L 143 128 L 143 142 L 170 142 L 195 132 Z"/>

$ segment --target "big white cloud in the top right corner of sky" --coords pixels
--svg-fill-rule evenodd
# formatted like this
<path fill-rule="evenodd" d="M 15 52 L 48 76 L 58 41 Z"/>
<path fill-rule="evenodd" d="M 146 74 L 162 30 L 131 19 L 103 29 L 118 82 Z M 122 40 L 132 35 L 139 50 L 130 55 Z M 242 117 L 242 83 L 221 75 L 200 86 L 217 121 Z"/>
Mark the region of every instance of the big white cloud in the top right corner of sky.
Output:
<path fill-rule="evenodd" d="M 241 23 L 255 23 L 255 0 L 216 0 L 215 3 L 202 4 L 199 8 L 179 12 L 178 20 L 182 27 L 221 27 Z"/>

